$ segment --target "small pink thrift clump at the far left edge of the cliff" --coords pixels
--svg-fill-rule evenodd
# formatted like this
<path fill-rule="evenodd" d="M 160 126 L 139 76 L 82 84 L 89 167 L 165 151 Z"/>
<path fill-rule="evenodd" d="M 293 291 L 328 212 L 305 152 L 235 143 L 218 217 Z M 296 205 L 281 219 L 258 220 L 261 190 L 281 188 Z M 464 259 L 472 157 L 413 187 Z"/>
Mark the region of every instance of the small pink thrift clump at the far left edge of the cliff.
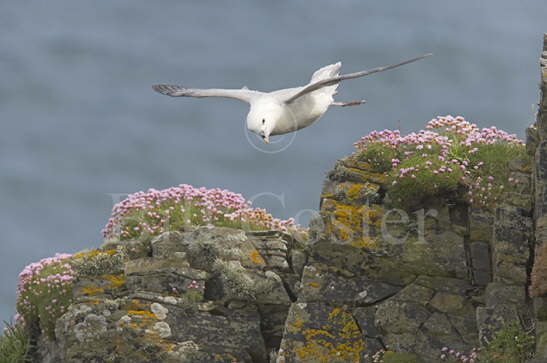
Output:
<path fill-rule="evenodd" d="M 19 274 L 17 321 L 38 319 L 46 333 L 53 334 L 54 322 L 68 308 L 75 272 L 65 260 L 72 255 L 56 254 L 31 263 Z"/>

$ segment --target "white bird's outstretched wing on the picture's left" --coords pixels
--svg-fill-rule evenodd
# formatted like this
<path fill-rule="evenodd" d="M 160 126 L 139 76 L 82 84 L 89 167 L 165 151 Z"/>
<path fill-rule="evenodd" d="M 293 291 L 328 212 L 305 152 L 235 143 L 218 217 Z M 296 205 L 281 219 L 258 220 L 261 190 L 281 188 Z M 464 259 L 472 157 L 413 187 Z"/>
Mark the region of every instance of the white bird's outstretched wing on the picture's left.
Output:
<path fill-rule="evenodd" d="M 253 91 L 250 89 L 220 89 L 220 88 L 186 88 L 183 86 L 176 86 L 170 84 L 157 84 L 152 86 L 154 91 L 161 93 L 162 95 L 171 97 L 225 97 L 235 98 L 247 103 L 250 103 L 253 98 L 259 97 L 262 92 Z"/>

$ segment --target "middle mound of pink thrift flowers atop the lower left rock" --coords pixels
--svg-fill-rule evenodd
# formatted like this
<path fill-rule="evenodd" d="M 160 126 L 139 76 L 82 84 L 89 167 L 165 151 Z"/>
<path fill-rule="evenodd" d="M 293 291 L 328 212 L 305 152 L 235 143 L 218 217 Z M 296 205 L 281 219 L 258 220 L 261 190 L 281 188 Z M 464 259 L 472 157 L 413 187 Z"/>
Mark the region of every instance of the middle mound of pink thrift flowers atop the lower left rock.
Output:
<path fill-rule="evenodd" d="M 251 208 L 241 194 L 218 188 L 181 184 L 164 190 L 131 194 L 114 206 L 103 229 L 105 237 L 137 238 L 158 235 L 185 225 L 272 229 L 287 232 L 294 220 L 280 220 L 264 209 Z"/>

